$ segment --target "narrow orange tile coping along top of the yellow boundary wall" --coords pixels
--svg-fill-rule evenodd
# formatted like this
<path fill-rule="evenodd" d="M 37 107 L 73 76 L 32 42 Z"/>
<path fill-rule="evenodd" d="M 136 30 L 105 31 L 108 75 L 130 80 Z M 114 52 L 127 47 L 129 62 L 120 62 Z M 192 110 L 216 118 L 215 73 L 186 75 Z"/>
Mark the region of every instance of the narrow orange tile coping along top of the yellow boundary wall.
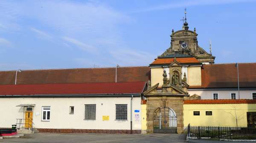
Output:
<path fill-rule="evenodd" d="M 184 104 L 256 104 L 251 99 L 184 100 Z"/>

